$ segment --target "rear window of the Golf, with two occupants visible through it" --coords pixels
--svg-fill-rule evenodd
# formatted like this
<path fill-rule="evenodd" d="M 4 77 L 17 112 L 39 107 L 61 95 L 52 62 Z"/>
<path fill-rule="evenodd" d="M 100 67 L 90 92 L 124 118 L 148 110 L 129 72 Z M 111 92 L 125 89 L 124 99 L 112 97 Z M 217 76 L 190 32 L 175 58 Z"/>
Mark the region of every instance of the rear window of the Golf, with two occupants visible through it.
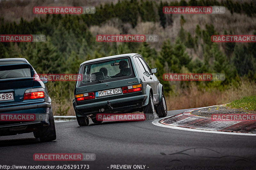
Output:
<path fill-rule="evenodd" d="M 84 64 L 80 67 L 82 81 L 77 81 L 77 87 L 99 82 L 110 82 L 134 77 L 130 58 L 116 58 Z"/>

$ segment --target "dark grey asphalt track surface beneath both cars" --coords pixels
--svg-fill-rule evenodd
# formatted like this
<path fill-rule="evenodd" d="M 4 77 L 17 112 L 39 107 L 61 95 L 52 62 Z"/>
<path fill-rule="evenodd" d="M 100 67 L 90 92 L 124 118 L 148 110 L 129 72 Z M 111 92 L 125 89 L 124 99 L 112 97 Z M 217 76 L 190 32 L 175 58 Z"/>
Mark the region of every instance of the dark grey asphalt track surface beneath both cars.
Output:
<path fill-rule="evenodd" d="M 167 116 L 185 110 L 168 111 Z M 155 120 L 158 118 L 155 118 Z M 183 131 L 159 127 L 153 120 L 103 122 L 79 127 L 56 123 L 57 139 L 40 143 L 33 133 L 0 137 L 0 165 L 145 165 L 148 170 L 255 170 L 256 137 Z M 34 153 L 95 153 L 94 161 L 34 161 Z M 142 166 L 143 167 L 143 166 Z"/>

